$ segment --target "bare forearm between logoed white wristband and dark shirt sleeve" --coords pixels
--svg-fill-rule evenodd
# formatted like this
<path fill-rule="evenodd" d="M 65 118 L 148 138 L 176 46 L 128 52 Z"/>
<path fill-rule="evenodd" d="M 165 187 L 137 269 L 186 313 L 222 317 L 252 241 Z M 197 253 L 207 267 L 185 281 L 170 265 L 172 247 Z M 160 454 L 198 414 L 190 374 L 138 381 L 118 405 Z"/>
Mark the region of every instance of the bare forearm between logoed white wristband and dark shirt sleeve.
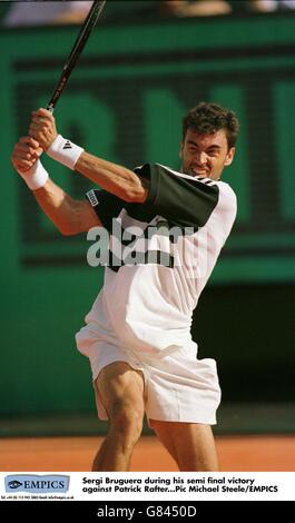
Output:
<path fill-rule="evenodd" d="M 125 201 L 146 200 L 147 188 L 142 186 L 138 176 L 126 167 L 85 151 L 79 157 L 75 170 Z"/>

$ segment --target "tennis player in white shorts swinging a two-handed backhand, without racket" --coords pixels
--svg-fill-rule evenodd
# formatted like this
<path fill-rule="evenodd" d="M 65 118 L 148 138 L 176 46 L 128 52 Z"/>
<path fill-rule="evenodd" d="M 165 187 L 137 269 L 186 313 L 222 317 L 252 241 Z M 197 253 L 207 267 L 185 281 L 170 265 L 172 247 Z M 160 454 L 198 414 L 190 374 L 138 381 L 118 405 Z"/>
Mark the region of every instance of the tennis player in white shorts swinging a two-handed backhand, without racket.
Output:
<path fill-rule="evenodd" d="M 216 363 L 197 358 L 190 325 L 236 216 L 235 194 L 220 177 L 237 134 L 233 111 L 200 102 L 183 121 L 180 171 L 159 164 L 130 170 L 63 138 L 39 109 L 14 146 L 14 168 L 62 234 L 98 226 L 110 238 L 104 287 L 76 335 L 99 417 L 109 421 L 94 471 L 129 470 L 145 413 L 180 471 L 218 470 Z M 72 199 L 49 178 L 41 150 L 100 189 Z"/>

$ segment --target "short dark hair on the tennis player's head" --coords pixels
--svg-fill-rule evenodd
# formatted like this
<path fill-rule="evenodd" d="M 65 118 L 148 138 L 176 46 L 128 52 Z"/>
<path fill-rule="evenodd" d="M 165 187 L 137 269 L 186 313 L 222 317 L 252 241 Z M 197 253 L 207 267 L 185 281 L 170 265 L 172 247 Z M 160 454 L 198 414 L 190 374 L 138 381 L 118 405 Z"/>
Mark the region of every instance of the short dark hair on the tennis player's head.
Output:
<path fill-rule="evenodd" d="M 217 103 L 199 102 L 185 116 L 183 120 L 183 140 L 185 140 L 187 129 L 193 129 L 200 135 L 213 135 L 224 129 L 227 137 L 228 148 L 234 147 L 239 124 L 236 115 Z"/>

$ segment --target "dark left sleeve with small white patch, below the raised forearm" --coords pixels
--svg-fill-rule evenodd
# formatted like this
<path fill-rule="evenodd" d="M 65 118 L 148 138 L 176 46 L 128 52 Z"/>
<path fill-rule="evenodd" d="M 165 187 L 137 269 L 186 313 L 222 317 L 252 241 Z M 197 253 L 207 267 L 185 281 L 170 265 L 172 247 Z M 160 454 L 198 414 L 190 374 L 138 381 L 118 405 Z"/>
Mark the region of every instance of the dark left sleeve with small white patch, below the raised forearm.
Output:
<path fill-rule="evenodd" d="M 102 189 L 91 189 L 86 193 L 86 197 L 94 207 L 104 227 L 110 233 L 112 218 L 119 216 L 121 209 L 126 207 L 126 201 Z"/>

